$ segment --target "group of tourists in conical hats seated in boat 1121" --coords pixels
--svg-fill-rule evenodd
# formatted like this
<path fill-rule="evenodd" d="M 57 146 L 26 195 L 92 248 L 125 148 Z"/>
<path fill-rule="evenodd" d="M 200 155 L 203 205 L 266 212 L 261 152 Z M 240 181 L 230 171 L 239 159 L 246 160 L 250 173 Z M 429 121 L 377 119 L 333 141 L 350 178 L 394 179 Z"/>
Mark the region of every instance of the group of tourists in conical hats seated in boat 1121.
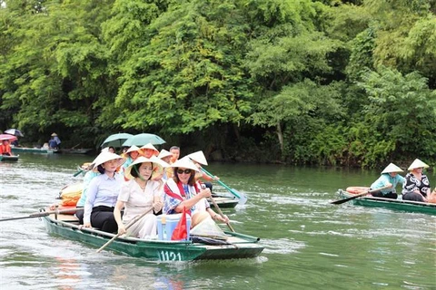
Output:
<path fill-rule="evenodd" d="M 159 151 L 149 143 L 141 148 L 132 146 L 122 155 L 102 150 L 84 175 L 84 189 L 76 205 L 84 208 L 76 213 L 81 227 L 154 238 L 158 215 L 183 211 L 191 216 L 192 227 L 207 218 L 228 223 L 206 200 L 211 189 L 202 186 L 200 164 L 204 165 L 205 158 L 199 152 L 179 160 L 176 146 Z"/>

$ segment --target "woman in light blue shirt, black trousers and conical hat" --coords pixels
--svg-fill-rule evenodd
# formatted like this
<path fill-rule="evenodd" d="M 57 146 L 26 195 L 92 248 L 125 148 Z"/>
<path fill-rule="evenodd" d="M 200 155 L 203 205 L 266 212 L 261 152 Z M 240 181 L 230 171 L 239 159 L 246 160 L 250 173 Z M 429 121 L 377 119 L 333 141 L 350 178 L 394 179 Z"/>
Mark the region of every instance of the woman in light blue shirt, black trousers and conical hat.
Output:
<path fill-rule="evenodd" d="M 123 177 L 116 172 L 124 159 L 121 156 L 102 152 L 96 159 L 94 169 L 101 175 L 89 184 L 84 202 L 84 227 L 97 227 L 105 232 L 117 232 L 114 207 L 121 191 Z"/>

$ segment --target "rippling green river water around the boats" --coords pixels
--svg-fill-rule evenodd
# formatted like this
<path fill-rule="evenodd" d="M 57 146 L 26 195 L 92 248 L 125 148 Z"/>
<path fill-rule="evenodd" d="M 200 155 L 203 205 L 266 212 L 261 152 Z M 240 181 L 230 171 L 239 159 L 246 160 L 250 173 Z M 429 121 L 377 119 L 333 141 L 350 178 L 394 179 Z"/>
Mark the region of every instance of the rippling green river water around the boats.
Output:
<path fill-rule="evenodd" d="M 0 162 L 0 218 L 27 216 L 79 181 L 92 157 L 21 154 Z M 436 216 L 349 204 L 337 190 L 368 186 L 361 169 L 213 163 L 245 193 L 223 209 L 236 231 L 261 237 L 253 259 L 156 263 L 52 237 L 38 218 L 0 223 L 0 289 L 436 289 Z M 429 176 L 432 187 L 436 175 Z M 218 192 L 225 189 L 215 185 Z"/>

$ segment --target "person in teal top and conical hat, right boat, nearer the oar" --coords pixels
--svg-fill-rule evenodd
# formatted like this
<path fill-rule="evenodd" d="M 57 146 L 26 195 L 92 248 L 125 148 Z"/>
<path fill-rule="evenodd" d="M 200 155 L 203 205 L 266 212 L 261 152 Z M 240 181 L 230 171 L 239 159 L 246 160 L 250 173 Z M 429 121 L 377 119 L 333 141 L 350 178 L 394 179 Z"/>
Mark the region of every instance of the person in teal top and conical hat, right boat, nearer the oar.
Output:
<path fill-rule="evenodd" d="M 406 179 L 398 174 L 399 172 L 402 172 L 402 169 L 393 163 L 389 164 L 385 169 L 383 169 L 383 171 L 381 171 L 380 178 L 372 183 L 371 189 L 381 189 L 384 187 L 389 188 L 372 192 L 372 197 L 397 199 L 398 195 L 395 188 L 398 183 L 401 183 L 402 186 L 404 181 L 406 181 Z"/>

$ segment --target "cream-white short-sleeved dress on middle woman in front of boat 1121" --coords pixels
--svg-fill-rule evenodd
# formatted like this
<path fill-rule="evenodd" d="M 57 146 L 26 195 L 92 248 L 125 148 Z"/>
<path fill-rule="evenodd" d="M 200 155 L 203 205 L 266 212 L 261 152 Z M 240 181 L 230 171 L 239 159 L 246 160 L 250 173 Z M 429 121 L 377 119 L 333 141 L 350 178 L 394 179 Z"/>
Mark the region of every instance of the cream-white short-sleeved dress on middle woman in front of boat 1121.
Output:
<path fill-rule="evenodd" d="M 118 200 L 124 202 L 123 223 L 127 225 L 136 216 L 153 208 L 154 197 L 161 198 L 163 187 L 160 182 L 148 180 L 145 189 L 141 189 L 134 179 L 124 182 Z M 157 219 L 150 210 L 133 226 L 127 228 L 126 235 L 139 238 L 151 238 L 157 235 Z"/>

